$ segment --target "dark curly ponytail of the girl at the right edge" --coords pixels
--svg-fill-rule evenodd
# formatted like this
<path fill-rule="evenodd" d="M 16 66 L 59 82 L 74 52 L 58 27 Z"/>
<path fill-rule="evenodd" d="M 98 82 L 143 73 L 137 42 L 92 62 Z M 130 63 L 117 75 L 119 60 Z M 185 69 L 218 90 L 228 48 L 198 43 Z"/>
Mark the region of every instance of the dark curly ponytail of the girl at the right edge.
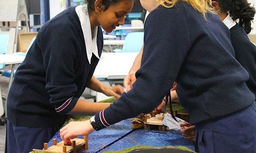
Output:
<path fill-rule="evenodd" d="M 255 8 L 250 6 L 247 0 L 232 0 L 230 16 L 233 20 L 239 19 L 239 26 L 244 27 L 247 34 L 252 30 L 251 21 L 255 14 Z"/>

